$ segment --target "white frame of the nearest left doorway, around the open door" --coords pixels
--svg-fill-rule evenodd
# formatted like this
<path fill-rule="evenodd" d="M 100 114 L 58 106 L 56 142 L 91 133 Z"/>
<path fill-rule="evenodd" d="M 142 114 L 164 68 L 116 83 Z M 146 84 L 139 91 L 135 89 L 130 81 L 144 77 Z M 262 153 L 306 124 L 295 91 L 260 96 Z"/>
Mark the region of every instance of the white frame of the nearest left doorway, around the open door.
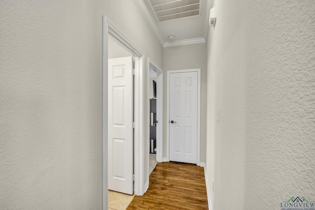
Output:
<path fill-rule="evenodd" d="M 144 53 L 121 30 L 119 30 L 107 17 L 103 16 L 103 210 L 108 209 L 108 36 L 111 35 L 119 41 L 135 59 L 136 73 L 134 75 L 134 194 L 144 194 Z"/>

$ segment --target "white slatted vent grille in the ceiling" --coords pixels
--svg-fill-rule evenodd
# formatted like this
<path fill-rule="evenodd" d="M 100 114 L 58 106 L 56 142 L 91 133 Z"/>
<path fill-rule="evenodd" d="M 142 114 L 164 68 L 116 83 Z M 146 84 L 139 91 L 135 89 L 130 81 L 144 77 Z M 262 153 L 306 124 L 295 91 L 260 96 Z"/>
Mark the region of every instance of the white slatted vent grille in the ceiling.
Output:
<path fill-rule="evenodd" d="M 200 15 L 201 0 L 149 0 L 158 22 Z"/>

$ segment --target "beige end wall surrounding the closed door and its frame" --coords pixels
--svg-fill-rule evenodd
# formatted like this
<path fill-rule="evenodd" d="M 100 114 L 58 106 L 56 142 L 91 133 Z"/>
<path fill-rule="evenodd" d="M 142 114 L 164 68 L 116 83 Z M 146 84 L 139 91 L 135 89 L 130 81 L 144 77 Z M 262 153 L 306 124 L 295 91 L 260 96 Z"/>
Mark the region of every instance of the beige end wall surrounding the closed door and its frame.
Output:
<path fill-rule="evenodd" d="M 207 69 L 206 69 L 206 43 L 189 44 L 175 47 L 163 48 L 163 71 L 164 75 L 164 113 L 163 118 L 166 120 L 166 81 L 168 70 L 201 68 L 201 135 L 200 135 L 200 161 L 206 161 L 206 94 L 207 94 Z M 166 157 L 166 126 L 164 123 L 164 143 L 163 157 Z"/>

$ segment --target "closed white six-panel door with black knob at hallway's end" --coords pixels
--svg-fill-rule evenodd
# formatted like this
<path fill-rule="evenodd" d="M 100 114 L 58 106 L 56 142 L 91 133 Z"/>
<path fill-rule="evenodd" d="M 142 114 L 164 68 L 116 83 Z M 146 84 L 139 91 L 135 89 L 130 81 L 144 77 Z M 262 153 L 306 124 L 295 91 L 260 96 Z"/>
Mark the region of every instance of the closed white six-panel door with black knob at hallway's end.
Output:
<path fill-rule="evenodd" d="M 169 159 L 197 163 L 198 73 L 170 73 Z"/>

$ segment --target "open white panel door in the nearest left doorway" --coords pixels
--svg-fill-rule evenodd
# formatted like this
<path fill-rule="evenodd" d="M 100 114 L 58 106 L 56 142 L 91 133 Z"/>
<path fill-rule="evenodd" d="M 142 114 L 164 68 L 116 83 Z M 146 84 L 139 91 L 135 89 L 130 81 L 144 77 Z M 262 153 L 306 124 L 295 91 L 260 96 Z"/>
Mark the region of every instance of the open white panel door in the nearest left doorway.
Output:
<path fill-rule="evenodd" d="M 133 194 L 132 57 L 108 59 L 108 189 Z"/>

